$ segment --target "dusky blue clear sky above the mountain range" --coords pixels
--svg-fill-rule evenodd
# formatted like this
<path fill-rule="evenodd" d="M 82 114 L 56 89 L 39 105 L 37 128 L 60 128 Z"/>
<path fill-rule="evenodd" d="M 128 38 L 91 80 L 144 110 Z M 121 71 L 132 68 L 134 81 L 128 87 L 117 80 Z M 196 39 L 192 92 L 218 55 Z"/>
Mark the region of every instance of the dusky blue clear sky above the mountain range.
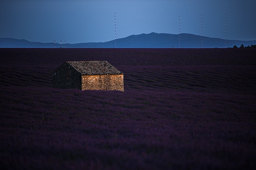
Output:
<path fill-rule="evenodd" d="M 1 0 L 0 37 L 106 42 L 141 33 L 256 40 L 256 0 Z"/>

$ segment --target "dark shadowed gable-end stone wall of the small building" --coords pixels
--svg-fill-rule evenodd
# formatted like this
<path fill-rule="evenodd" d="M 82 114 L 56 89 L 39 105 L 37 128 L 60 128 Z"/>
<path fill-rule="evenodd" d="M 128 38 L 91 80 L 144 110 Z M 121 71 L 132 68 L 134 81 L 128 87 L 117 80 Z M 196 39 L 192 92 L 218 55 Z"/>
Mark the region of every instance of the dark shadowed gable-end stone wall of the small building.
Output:
<path fill-rule="evenodd" d="M 82 89 L 81 80 L 81 74 L 67 63 L 62 64 L 52 73 L 52 87 L 54 88 Z"/>

